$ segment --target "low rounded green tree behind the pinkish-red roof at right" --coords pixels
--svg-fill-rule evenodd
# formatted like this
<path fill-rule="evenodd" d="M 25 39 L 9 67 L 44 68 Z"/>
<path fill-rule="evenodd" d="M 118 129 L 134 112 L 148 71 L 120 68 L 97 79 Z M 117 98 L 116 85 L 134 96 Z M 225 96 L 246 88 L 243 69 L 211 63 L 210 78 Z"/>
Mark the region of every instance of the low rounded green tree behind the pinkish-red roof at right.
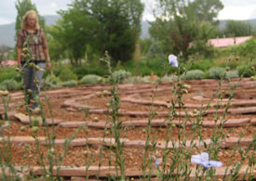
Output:
<path fill-rule="evenodd" d="M 228 20 L 223 32 L 226 36 L 248 36 L 252 35 L 254 30 L 249 22 Z"/>

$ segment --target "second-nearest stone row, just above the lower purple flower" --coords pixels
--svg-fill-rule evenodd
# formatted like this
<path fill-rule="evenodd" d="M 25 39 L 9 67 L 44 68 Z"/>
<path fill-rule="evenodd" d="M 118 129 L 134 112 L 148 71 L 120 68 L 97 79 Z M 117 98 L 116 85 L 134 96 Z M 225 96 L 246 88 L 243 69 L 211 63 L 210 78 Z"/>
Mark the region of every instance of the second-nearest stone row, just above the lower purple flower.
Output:
<path fill-rule="evenodd" d="M 41 145 L 46 145 L 46 137 L 37 137 L 37 140 L 34 139 L 33 136 L 10 136 L 9 138 L 7 136 L 0 137 L 0 142 L 4 141 L 10 141 L 10 143 L 13 144 L 20 144 L 20 143 L 28 143 L 28 144 L 34 144 L 38 142 Z M 55 145 L 58 147 L 62 147 L 67 139 L 56 139 Z M 235 148 L 236 146 L 239 148 L 248 149 L 250 144 L 253 142 L 253 138 L 243 137 L 228 137 L 224 140 L 222 140 L 221 147 L 222 149 L 231 149 Z M 124 148 L 127 149 L 144 149 L 146 145 L 146 141 L 143 140 L 129 140 L 125 138 L 120 138 L 120 142 L 124 144 Z M 198 140 L 188 140 L 186 141 L 186 144 L 184 145 L 183 142 L 174 141 L 168 142 L 168 145 L 166 145 L 166 141 L 160 140 L 156 141 L 155 149 L 175 149 L 179 148 L 180 146 L 185 148 L 191 148 L 191 146 L 196 148 L 204 148 L 205 145 L 209 145 L 211 143 L 210 139 L 205 139 L 202 141 Z M 75 138 L 71 141 L 70 146 L 71 147 L 85 147 L 87 145 L 90 146 L 105 146 L 105 147 L 115 147 L 115 138 L 101 138 L 101 137 L 89 137 L 89 138 Z M 153 143 L 149 143 L 149 146 L 153 146 Z"/>

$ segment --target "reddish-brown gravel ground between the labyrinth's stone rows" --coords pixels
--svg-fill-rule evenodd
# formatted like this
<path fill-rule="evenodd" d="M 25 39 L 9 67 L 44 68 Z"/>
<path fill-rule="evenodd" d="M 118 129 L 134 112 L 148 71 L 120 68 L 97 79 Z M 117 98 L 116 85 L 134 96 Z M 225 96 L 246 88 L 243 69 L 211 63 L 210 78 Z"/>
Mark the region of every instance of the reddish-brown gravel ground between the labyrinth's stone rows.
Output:
<path fill-rule="evenodd" d="M 189 84 L 191 87 L 188 90 L 187 94 L 183 94 L 182 102 L 184 105 L 198 105 L 207 104 L 210 97 L 213 97 L 217 93 L 218 81 L 214 80 L 203 80 L 203 81 L 190 81 L 186 84 Z M 232 84 L 236 84 L 236 80 Z M 245 101 L 245 100 L 255 100 L 256 101 L 256 84 L 250 82 L 248 79 L 245 79 L 242 84 L 239 84 L 236 90 L 230 88 L 231 84 L 224 83 L 221 91 L 223 99 L 217 99 L 215 96 L 212 100 L 212 103 L 217 103 L 222 101 L 226 102 L 228 98 L 228 92 L 233 91 L 235 97 L 232 99 L 232 102 Z M 179 110 L 179 108 L 172 109 L 171 100 L 175 99 L 172 92 L 173 84 L 164 83 L 157 86 L 156 84 L 120 84 L 118 86 L 118 96 L 120 98 L 119 102 L 119 112 L 120 115 L 118 120 L 121 122 L 128 121 L 138 121 L 138 120 L 164 120 L 168 116 L 163 116 L 160 112 L 165 112 L 168 114 L 170 110 L 179 111 L 188 111 L 193 112 L 195 108 L 185 108 Z M 100 122 L 112 122 L 113 115 L 111 111 L 107 112 L 109 108 L 109 103 L 111 101 L 110 85 L 84 85 L 76 86 L 72 88 L 62 88 L 55 89 L 51 91 L 46 91 L 41 93 L 41 101 L 44 105 L 44 112 L 47 118 L 53 117 L 54 119 L 59 119 L 65 122 L 91 122 L 97 117 Z M 223 90 L 225 90 L 223 92 Z M 107 91 L 107 92 L 106 92 Z M 103 92 L 106 93 L 103 95 Z M 99 93 L 99 94 L 98 94 Z M 100 95 L 101 93 L 101 95 Z M 23 102 L 23 97 L 21 92 L 11 93 L 12 100 L 10 105 L 12 108 L 10 110 L 15 110 L 17 112 L 22 112 L 26 114 L 25 107 L 20 105 Z M 100 95 L 100 96 L 99 96 Z M 203 97 L 204 101 L 196 100 L 194 97 Z M 46 98 L 47 97 L 47 98 Z M 128 98 L 132 100 L 137 100 L 137 102 L 128 101 Z M 48 100 L 47 100 L 48 99 Z M 78 109 L 72 105 L 67 106 L 64 103 L 73 101 L 73 105 L 81 105 L 83 107 L 89 107 L 90 110 L 104 110 L 105 112 L 91 111 L 88 116 L 86 116 L 85 110 Z M 151 105 L 152 102 L 158 102 L 158 105 Z M 1 104 L 2 102 L 0 102 Z M 64 105 L 64 106 L 63 106 Z M 78 107 L 79 107 L 78 106 Z M 253 107 L 253 106 L 250 106 Z M 256 106 L 254 106 L 256 107 Z M 247 106 L 240 107 L 231 107 L 230 109 L 239 109 L 247 108 Z M 3 110 L 3 105 L 1 106 Z M 200 111 L 203 108 L 197 107 L 196 111 Z M 222 107 L 224 109 L 224 107 Z M 111 109 L 109 109 L 111 110 Z M 214 107 L 209 108 L 209 110 L 216 110 Z M 121 112 L 131 111 L 133 114 L 126 114 Z M 140 112 L 144 112 L 143 115 Z M 150 118 L 151 112 L 155 113 L 153 118 Z M 36 115 L 34 115 L 36 116 Z M 208 114 L 201 118 L 202 122 L 211 121 L 214 122 L 216 114 Z M 221 119 L 223 113 L 218 113 L 218 118 Z M 240 118 L 250 118 L 256 119 L 256 112 L 250 112 L 249 114 L 227 114 L 225 119 L 240 119 Z M 196 121 L 197 117 L 174 117 L 174 120 L 182 121 Z M 170 120 L 170 118 L 168 118 Z M 25 131 L 20 130 L 20 127 L 24 126 Z M 63 128 L 59 125 L 50 126 L 48 128 L 40 126 L 37 136 L 46 136 L 46 133 L 55 132 L 56 139 L 66 139 L 71 136 L 74 136 L 77 128 Z M 200 130 L 200 131 L 199 131 Z M 216 130 L 217 133 L 216 133 Z M 170 130 L 167 127 L 150 127 L 149 135 L 146 134 L 147 127 L 134 127 L 128 126 L 120 130 L 121 138 L 127 138 L 129 140 L 191 140 L 197 139 L 198 136 L 201 136 L 202 139 L 209 139 L 212 136 L 216 136 L 222 131 L 226 136 L 233 137 L 255 137 L 256 126 L 255 125 L 241 125 L 239 127 L 232 128 L 207 128 L 207 127 L 198 127 L 197 131 L 192 129 L 191 126 L 177 127 L 173 126 Z M 10 126 L 8 129 L 3 131 L 4 136 L 32 136 L 32 128 L 30 125 L 24 125 L 19 121 L 10 121 Z M 103 130 L 97 128 L 82 128 L 75 136 L 75 138 L 87 138 L 87 137 L 114 137 L 110 130 Z M 38 165 L 39 152 L 42 152 L 44 155 L 47 154 L 47 147 L 38 146 L 34 144 L 21 144 L 21 145 L 11 145 L 12 160 L 16 165 L 31 164 Z M 36 149 L 37 148 L 37 149 Z M 1 146 L 3 149 L 3 146 Z M 87 151 L 86 151 L 87 150 Z M 199 152 L 205 151 L 207 149 L 188 149 L 187 151 L 193 155 Z M 59 157 L 61 153 L 64 152 L 64 149 L 61 147 L 55 148 L 56 155 Z M 69 154 L 64 157 L 63 165 L 74 165 L 74 166 L 83 166 L 87 165 L 90 162 L 91 165 L 99 165 L 101 160 L 101 165 L 114 165 L 115 164 L 115 151 L 110 148 L 105 147 L 72 147 L 69 150 Z M 149 149 L 146 153 L 144 149 L 124 149 L 124 159 L 127 170 L 141 170 L 143 155 L 156 155 L 157 157 L 162 157 L 165 150 L 155 150 Z M 171 156 L 175 154 L 176 149 L 173 149 L 168 154 L 168 162 L 171 162 Z M 249 155 L 253 153 L 253 150 L 249 151 Z M 232 155 L 232 158 L 231 158 Z M 249 162 L 246 159 L 243 163 Z M 219 149 L 217 160 L 223 162 L 224 165 L 231 165 L 236 162 L 241 161 L 241 156 L 238 153 L 238 150 L 233 149 Z M 44 160 L 47 163 L 47 157 Z M 188 161 L 190 162 L 190 161 Z"/>

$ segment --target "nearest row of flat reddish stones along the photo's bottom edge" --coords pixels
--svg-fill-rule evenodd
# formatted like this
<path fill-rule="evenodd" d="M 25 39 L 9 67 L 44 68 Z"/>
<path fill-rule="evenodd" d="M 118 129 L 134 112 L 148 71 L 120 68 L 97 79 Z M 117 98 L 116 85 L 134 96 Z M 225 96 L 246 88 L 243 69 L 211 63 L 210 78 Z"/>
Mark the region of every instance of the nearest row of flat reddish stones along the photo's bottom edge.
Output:
<path fill-rule="evenodd" d="M 57 175 L 57 167 L 53 168 L 53 175 Z M 223 176 L 226 174 L 227 175 L 231 175 L 232 174 L 232 170 L 234 170 L 233 167 L 231 166 L 223 166 L 220 168 L 215 168 L 216 172 L 214 175 L 214 178 L 223 178 Z M 8 170 L 8 169 L 6 169 Z M 29 174 L 33 174 L 33 175 L 45 175 L 45 171 L 43 168 L 39 167 L 39 166 L 31 166 L 31 167 L 21 167 L 21 166 L 16 166 L 15 170 L 21 174 L 23 177 L 25 177 L 26 175 Z M 195 173 L 199 171 L 199 175 L 201 174 L 202 170 L 201 168 L 199 168 L 198 170 L 196 170 L 195 167 L 191 168 L 191 174 L 190 174 L 190 179 L 194 179 L 195 178 Z M 251 172 L 252 171 L 252 172 Z M 7 171 L 6 171 L 7 172 Z M 120 173 L 120 170 L 117 170 L 118 174 Z M 154 181 L 158 181 L 159 178 L 157 178 L 157 170 L 152 169 L 151 171 L 146 170 L 145 173 L 151 173 L 151 180 Z M 8 174 L 8 172 L 6 173 Z M 111 176 L 115 176 L 116 175 L 116 171 L 115 171 L 115 167 L 114 166 L 101 166 L 101 168 L 99 168 L 98 166 L 89 166 L 88 168 L 85 166 L 81 166 L 81 167 L 69 167 L 69 166 L 61 166 L 59 167 L 59 175 L 60 176 L 71 176 L 72 178 L 74 178 L 74 180 L 76 181 L 84 181 L 86 180 L 86 176 L 89 176 L 91 178 L 89 178 L 88 180 L 92 181 L 92 180 L 96 180 L 93 177 L 99 176 L 100 180 L 101 179 L 106 179 L 106 178 L 110 178 Z M 142 177 L 144 175 L 144 173 L 140 170 L 140 171 L 127 171 L 126 172 L 126 177 L 129 178 L 129 180 L 131 178 L 133 178 L 133 180 L 137 180 L 137 181 L 141 181 L 143 179 L 139 179 L 138 177 Z M 177 173 L 177 171 L 173 172 L 173 175 L 179 175 L 179 173 Z M 198 175 L 198 174 L 197 174 Z M 248 179 L 249 176 L 253 176 L 254 178 L 256 177 L 256 169 L 255 168 L 250 168 L 249 165 L 242 165 L 241 168 L 239 169 L 238 172 L 238 178 L 237 179 Z"/>

